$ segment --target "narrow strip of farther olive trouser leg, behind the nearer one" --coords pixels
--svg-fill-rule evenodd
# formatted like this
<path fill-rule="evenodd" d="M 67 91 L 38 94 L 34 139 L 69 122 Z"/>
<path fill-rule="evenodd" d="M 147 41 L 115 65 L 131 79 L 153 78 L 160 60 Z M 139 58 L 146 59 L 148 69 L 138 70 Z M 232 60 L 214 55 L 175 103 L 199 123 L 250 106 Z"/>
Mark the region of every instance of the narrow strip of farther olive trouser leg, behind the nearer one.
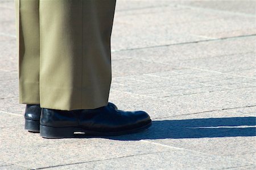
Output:
<path fill-rule="evenodd" d="M 19 103 L 39 104 L 39 0 L 16 0 Z"/>

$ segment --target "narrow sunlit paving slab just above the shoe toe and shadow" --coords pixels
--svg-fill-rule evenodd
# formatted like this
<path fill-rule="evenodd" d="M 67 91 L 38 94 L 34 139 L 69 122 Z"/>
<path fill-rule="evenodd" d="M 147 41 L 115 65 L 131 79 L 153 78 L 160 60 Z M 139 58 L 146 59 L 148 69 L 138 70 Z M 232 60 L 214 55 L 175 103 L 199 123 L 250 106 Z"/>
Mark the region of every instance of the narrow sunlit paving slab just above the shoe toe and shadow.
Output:
<path fill-rule="evenodd" d="M 210 110 L 255 106 L 255 97 L 252 95 L 254 90 L 255 88 L 230 89 L 188 95 L 179 95 L 178 93 L 173 96 L 164 96 L 167 92 L 163 92 L 162 98 L 151 97 L 150 94 L 147 99 L 135 102 L 123 99 L 122 103 L 119 103 L 119 107 L 126 110 L 145 110 L 151 114 L 152 118 L 192 114 Z M 119 92 L 119 94 L 122 93 Z M 146 98 L 147 94 L 143 94 L 143 97 Z"/>

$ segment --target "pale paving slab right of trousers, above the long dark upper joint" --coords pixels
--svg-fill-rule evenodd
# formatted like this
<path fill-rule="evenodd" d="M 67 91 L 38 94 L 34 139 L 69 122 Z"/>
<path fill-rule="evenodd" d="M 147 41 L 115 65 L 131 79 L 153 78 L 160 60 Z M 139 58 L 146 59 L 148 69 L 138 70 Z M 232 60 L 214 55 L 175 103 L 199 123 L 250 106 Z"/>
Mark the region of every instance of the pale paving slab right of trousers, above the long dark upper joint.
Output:
<path fill-rule="evenodd" d="M 135 2 L 131 1 L 130 3 Z M 254 17 L 220 13 L 219 11 L 170 5 L 133 10 L 133 15 L 129 15 L 129 13 L 131 11 L 115 14 L 115 23 L 117 24 L 113 28 L 112 38 L 114 50 L 154 46 L 156 42 L 157 45 L 164 45 L 251 35 L 256 32 Z M 134 14 L 137 16 L 136 18 L 134 18 Z M 148 34 L 154 36 L 147 36 Z M 162 34 L 165 36 L 160 36 Z"/>

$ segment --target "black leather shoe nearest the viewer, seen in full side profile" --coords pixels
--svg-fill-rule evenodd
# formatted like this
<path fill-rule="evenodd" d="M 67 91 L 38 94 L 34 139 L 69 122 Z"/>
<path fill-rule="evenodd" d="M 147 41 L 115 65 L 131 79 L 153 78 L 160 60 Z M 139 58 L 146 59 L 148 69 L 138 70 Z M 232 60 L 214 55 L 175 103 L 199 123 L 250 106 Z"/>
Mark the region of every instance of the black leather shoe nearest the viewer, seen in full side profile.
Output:
<path fill-rule="evenodd" d="M 113 103 L 97 109 L 54 110 L 42 109 L 40 135 L 44 138 L 72 138 L 74 132 L 92 136 L 129 134 L 151 126 L 150 116 L 144 111 L 122 111 Z"/>

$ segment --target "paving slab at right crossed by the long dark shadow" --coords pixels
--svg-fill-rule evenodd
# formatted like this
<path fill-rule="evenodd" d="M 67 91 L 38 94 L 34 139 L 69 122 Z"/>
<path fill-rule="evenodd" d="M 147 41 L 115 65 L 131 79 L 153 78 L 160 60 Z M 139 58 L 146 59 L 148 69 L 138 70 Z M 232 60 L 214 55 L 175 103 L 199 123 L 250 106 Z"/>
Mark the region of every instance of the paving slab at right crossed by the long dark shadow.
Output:
<path fill-rule="evenodd" d="M 255 117 L 211 111 L 156 119 L 155 128 L 150 128 L 151 131 L 143 137 L 134 135 L 134 139 L 210 155 L 240 157 L 240 160 L 254 164 L 255 127 Z M 158 134 L 159 131 L 162 134 Z"/>

